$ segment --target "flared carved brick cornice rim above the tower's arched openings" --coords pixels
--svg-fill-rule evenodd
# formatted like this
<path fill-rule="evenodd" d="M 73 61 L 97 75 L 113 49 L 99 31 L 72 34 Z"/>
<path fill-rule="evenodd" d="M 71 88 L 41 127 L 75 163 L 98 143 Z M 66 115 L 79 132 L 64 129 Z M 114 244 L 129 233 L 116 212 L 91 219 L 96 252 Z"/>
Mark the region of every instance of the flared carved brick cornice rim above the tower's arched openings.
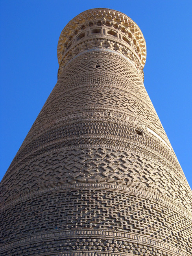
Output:
<path fill-rule="evenodd" d="M 81 38 L 83 31 L 87 27 L 95 26 L 96 24 L 120 31 L 120 33 L 125 35 L 124 40 L 128 40 L 126 39 L 128 37 L 134 44 L 142 68 L 144 67 L 146 62 L 146 42 L 140 28 L 124 13 L 108 8 L 94 8 L 83 11 L 66 24 L 61 32 L 57 46 L 59 65 L 61 65 L 63 54 L 70 47 L 70 42 L 73 38 L 76 35 L 79 35 L 79 38 Z"/>

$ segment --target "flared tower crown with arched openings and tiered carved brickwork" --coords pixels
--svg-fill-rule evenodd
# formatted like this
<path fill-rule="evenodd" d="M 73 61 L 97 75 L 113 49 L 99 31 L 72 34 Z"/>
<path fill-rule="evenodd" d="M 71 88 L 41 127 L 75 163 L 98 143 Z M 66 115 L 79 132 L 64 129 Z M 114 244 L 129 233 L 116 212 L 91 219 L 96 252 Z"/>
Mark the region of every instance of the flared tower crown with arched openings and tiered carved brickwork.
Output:
<path fill-rule="evenodd" d="M 123 55 L 143 78 L 146 42 L 140 28 L 124 13 L 107 8 L 83 11 L 65 26 L 57 46 L 58 76 L 68 61 L 94 48 Z"/>

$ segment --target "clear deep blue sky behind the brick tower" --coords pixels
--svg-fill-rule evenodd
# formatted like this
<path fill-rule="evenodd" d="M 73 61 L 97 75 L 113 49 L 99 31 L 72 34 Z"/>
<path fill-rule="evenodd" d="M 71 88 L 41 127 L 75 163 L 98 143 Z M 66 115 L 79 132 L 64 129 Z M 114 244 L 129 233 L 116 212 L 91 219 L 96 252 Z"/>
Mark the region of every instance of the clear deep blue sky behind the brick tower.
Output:
<path fill-rule="evenodd" d="M 57 42 L 86 9 L 126 13 L 147 44 L 144 84 L 192 187 L 191 0 L 1 0 L 0 180 L 57 82 Z"/>

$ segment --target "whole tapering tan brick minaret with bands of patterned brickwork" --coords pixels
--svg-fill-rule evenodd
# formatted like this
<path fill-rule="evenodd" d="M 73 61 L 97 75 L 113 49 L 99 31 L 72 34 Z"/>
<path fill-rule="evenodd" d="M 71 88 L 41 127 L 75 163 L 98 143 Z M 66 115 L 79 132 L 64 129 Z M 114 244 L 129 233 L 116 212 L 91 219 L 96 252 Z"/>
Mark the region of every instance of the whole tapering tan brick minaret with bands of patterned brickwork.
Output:
<path fill-rule="evenodd" d="M 192 191 L 143 84 L 140 28 L 90 9 L 57 54 L 57 84 L 0 184 L 0 255 L 191 256 Z"/>

